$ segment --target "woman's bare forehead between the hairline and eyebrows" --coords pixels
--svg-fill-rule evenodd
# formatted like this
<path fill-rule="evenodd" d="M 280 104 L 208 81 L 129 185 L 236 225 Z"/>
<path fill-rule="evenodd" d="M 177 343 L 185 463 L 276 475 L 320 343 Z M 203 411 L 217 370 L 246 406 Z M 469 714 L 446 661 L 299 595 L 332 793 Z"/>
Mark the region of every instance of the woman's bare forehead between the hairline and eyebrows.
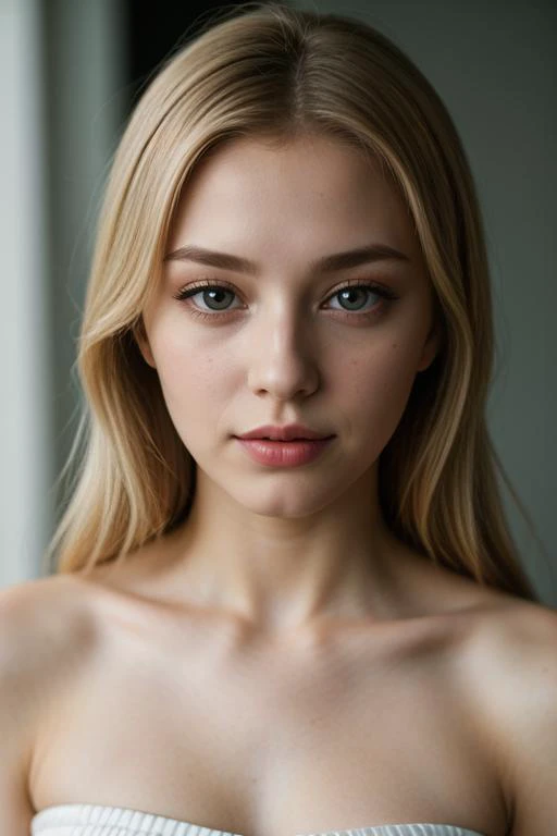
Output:
<path fill-rule="evenodd" d="M 381 163 L 319 135 L 280 145 L 243 137 L 212 151 L 183 189 L 171 243 L 201 244 L 208 231 L 230 243 L 282 233 L 283 244 L 311 238 L 327 249 L 332 236 L 339 245 L 348 235 L 355 245 L 376 237 L 400 248 L 413 237 L 409 211 Z"/>

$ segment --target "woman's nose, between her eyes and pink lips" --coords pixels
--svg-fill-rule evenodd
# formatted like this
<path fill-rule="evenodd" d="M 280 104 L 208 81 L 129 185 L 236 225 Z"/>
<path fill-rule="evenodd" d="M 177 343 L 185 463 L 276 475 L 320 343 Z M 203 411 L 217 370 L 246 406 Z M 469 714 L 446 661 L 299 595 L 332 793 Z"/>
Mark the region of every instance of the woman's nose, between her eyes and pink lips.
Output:
<path fill-rule="evenodd" d="M 310 325 L 283 311 L 260 321 L 249 339 L 248 385 L 256 395 L 276 401 L 311 395 L 319 386 L 319 369 Z"/>

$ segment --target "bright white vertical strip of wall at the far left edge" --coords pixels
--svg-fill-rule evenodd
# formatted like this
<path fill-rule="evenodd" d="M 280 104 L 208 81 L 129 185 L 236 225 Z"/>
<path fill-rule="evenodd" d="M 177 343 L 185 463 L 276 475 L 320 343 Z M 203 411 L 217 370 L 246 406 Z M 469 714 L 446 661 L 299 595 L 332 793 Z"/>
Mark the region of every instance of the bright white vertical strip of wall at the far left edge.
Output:
<path fill-rule="evenodd" d="M 0 0 L 0 582 L 36 574 L 50 525 L 41 41 L 36 0 Z"/>

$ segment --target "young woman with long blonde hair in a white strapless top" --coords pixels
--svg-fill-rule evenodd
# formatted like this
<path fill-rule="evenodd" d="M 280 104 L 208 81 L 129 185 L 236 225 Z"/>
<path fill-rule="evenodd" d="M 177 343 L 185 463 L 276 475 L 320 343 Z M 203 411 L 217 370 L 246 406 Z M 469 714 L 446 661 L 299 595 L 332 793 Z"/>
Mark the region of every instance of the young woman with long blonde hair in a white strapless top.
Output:
<path fill-rule="evenodd" d="M 248 5 L 182 48 L 108 185 L 55 571 L 1 599 L 1 832 L 553 832 L 492 354 L 470 170 L 391 41 Z"/>

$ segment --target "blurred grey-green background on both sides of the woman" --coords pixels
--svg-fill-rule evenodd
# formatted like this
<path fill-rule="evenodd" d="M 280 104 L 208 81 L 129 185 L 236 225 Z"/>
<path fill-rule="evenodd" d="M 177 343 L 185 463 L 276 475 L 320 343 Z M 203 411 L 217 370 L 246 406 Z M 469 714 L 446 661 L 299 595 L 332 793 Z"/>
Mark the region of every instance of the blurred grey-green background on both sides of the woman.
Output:
<path fill-rule="evenodd" d="M 433 83 L 460 132 L 492 267 L 491 433 L 540 539 L 503 489 L 523 565 L 557 607 L 557 4 L 292 4 L 376 26 Z M 144 0 L 0 0 L 0 587 L 41 576 L 60 514 L 57 480 L 79 403 L 76 337 L 112 155 L 140 85 L 211 13 L 210 3 L 153 9 Z"/>

